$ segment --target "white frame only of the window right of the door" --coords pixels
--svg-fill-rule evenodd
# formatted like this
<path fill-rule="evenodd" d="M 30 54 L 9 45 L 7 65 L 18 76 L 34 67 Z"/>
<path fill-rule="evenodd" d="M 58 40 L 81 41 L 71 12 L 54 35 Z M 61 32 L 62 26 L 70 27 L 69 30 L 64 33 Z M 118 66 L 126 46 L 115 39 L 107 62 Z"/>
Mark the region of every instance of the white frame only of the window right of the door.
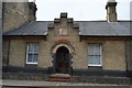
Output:
<path fill-rule="evenodd" d="M 88 66 L 102 66 L 102 44 L 98 44 L 98 43 L 94 43 L 95 45 L 100 45 L 100 64 L 89 64 L 88 63 Z M 88 48 L 89 48 L 89 45 L 92 45 L 92 44 L 88 44 Z M 89 51 L 88 51 L 89 52 Z M 89 53 L 88 53 L 88 56 L 89 56 Z M 89 61 L 89 58 L 88 58 Z"/>

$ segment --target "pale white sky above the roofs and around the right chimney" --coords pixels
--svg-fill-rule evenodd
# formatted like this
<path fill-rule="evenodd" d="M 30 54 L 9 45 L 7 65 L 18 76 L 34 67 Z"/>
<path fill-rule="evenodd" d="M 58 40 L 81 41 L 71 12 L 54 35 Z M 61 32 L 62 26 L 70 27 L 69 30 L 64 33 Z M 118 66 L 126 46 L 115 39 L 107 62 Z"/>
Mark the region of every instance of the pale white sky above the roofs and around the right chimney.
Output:
<path fill-rule="evenodd" d="M 131 1 L 117 0 L 118 20 L 130 20 Z M 35 0 L 35 3 L 37 21 L 53 21 L 61 12 L 67 12 L 75 21 L 106 20 L 107 16 L 107 0 Z"/>

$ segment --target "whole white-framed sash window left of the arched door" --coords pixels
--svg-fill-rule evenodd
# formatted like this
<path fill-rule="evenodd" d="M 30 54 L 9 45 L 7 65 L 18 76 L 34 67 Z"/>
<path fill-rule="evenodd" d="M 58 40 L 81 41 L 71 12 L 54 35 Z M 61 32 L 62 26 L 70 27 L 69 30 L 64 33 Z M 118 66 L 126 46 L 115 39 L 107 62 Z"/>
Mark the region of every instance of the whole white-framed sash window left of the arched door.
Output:
<path fill-rule="evenodd" d="M 38 44 L 29 43 L 26 48 L 26 64 L 37 64 Z"/>

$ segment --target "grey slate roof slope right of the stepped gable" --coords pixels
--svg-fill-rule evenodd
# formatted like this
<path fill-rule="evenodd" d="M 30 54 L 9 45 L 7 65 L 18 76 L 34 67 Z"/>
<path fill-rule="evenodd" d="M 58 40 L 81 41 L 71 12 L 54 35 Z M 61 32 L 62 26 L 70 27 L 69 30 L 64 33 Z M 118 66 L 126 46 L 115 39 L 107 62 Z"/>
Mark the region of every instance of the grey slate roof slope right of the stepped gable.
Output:
<path fill-rule="evenodd" d="M 79 22 L 80 35 L 128 36 L 131 35 L 130 22 Z"/>

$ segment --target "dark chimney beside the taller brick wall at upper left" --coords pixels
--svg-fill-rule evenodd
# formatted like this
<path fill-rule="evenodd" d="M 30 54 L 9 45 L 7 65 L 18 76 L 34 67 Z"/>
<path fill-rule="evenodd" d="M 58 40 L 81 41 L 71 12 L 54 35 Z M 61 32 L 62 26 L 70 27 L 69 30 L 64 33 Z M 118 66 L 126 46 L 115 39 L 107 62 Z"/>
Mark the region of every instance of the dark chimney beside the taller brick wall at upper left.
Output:
<path fill-rule="evenodd" d="M 36 20 L 35 14 L 36 14 L 36 10 L 37 10 L 35 2 L 30 2 L 29 7 L 30 7 L 30 18 L 29 18 L 29 20 L 30 21 L 35 21 Z"/>

